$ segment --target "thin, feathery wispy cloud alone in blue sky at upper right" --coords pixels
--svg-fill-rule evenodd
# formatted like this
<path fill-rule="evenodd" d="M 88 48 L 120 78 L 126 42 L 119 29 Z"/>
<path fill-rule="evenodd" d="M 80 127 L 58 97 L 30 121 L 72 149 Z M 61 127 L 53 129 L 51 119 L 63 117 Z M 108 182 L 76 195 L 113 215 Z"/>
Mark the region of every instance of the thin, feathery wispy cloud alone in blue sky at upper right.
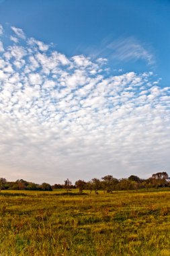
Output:
<path fill-rule="evenodd" d="M 89 46 L 85 49 L 88 55 L 93 59 L 97 57 L 105 57 L 120 63 L 144 61 L 147 65 L 155 64 L 155 56 L 151 47 L 147 46 L 133 36 L 112 39 L 104 38 L 100 44 L 95 47 Z M 79 51 L 83 51 L 83 47 L 79 46 Z"/>

